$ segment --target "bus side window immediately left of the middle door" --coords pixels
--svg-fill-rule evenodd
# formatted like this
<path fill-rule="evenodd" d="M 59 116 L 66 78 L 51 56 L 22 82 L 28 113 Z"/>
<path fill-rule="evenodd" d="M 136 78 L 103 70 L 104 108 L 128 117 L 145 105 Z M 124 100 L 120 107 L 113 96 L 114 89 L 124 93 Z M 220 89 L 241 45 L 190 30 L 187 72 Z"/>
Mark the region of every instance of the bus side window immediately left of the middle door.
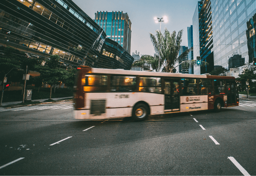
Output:
<path fill-rule="evenodd" d="M 140 77 L 140 92 L 161 93 L 161 78 Z"/>

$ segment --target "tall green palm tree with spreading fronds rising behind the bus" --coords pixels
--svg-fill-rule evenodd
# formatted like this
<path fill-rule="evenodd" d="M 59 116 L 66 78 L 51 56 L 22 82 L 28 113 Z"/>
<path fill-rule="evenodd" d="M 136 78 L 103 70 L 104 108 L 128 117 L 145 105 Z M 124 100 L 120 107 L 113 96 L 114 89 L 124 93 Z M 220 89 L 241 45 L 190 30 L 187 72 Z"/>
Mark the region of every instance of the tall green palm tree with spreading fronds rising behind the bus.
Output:
<path fill-rule="evenodd" d="M 167 28 L 164 28 L 164 34 L 162 34 L 159 30 L 156 30 L 156 36 L 150 33 L 150 39 L 157 54 L 155 53 L 154 56 L 143 55 L 141 56 L 140 60 L 134 62 L 132 66 L 147 68 L 151 67 L 153 70 L 159 72 L 160 70 L 158 70 L 158 62 L 160 60 L 160 68 L 163 68 L 162 71 L 173 72 L 173 70 L 176 68 L 174 65 L 180 62 L 181 58 L 193 50 L 193 47 L 191 47 L 178 56 L 180 44 L 182 42 L 182 32 L 183 30 L 180 30 L 176 36 L 176 31 L 172 32 L 171 34 Z M 189 68 L 192 66 L 198 66 L 196 64 L 196 60 L 186 60 L 180 64 Z M 208 63 L 201 61 L 201 66 L 205 65 L 208 65 Z"/>

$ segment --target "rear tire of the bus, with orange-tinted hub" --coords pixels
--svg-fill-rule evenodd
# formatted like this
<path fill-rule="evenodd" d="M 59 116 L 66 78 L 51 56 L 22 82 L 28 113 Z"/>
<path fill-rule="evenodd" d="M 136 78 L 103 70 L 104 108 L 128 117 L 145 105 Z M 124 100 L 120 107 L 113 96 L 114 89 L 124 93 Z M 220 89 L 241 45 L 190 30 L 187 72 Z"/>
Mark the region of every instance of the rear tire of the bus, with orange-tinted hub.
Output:
<path fill-rule="evenodd" d="M 148 115 L 149 115 L 148 106 L 142 103 L 134 106 L 132 110 L 132 117 L 134 118 L 134 120 L 137 120 L 137 121 L 145 120 L 146 118 L 148 118 Z"/>

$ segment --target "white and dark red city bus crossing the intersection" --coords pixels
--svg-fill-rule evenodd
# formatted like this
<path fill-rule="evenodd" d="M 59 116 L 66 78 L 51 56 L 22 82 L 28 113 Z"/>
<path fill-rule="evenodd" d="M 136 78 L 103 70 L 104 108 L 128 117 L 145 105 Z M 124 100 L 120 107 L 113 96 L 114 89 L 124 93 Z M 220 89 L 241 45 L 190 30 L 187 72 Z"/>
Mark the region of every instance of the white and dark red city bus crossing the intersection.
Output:
<path fill-rule="evenodd" d="M 80 66 L 75 118 L 102 120 L 239 106 L 234 77 Z"/>

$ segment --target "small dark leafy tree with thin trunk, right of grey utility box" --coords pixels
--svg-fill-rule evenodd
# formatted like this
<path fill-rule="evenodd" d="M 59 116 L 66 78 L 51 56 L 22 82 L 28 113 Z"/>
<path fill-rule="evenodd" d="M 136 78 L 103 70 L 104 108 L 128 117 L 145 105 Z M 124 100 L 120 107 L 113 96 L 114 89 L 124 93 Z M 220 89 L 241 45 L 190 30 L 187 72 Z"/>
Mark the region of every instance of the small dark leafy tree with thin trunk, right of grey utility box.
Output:
<path fill-rule="evenodd" d="M 58 55 L 51 55 L 46 60 L 45 66 L 40 65 L 35 67 L 40 72 L 40 76 L 44 82 L 50 85 L 50 99 L 52 98 L 52 86 L 68 78 L 66 70 L 57 68 L 59 60 Z"/>

